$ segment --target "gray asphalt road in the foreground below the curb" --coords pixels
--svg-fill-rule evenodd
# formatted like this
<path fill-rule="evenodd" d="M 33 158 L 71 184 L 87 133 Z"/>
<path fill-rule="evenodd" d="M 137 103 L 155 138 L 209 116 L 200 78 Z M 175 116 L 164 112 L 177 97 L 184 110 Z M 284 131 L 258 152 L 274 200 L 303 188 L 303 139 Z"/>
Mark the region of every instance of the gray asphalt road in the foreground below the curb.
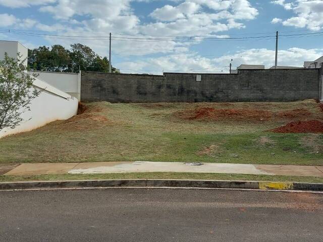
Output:
<path fill-rule="evenodd" d="M 323 194 L 0 192 L 0 241 L 323 241 Z"/>

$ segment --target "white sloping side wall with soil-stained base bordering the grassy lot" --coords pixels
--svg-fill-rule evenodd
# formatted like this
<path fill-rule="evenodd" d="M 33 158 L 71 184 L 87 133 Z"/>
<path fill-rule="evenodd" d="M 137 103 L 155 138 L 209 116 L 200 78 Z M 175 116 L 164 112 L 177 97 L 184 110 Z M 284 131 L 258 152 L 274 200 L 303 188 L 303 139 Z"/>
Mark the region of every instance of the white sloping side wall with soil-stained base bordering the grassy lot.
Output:
<path fill-rule="evenodd" d="M 78 100 L 75 97 L 40 79 L 34 81 L 34 86 L 43 91 L 31 102 L 31 111 L 26 111 L 21 115 L 24 120 L 20 126 L 0 131 L 0 138 L 31 131 L 50 122 L 68 119 L 77 114 Z"/>

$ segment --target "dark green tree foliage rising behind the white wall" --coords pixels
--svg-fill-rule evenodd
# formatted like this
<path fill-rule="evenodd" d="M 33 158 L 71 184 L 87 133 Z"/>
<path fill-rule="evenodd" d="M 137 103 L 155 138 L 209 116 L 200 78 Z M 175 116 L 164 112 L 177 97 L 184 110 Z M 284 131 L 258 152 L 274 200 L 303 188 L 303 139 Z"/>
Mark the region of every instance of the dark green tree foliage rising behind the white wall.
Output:
<path fill-rule="evenodd" d="M 101 57 L 90 47 L 83 44 L 72 44 L 71 49 L 62 45 L 52 45 L 51 48 L 39 46 L 28 50 L 28 67 L 34 71 L 48 72 L 108 72 L 109 60 Z M 112 67 L 113 72 L 117 69 Z"/>

